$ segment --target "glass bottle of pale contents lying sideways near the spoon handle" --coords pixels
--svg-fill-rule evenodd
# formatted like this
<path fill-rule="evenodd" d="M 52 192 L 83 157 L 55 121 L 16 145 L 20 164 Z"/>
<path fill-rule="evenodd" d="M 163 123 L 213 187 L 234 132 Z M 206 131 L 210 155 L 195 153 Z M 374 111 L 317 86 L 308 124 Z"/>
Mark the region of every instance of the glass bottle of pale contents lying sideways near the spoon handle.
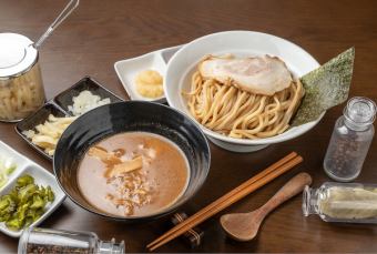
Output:
<path fill-rule="evenodd" d="M 325 222 L 377 224 L 377 184 L 327 182 L 319 189 L 306 186 L 303 213 L 317 214 Z"/>

